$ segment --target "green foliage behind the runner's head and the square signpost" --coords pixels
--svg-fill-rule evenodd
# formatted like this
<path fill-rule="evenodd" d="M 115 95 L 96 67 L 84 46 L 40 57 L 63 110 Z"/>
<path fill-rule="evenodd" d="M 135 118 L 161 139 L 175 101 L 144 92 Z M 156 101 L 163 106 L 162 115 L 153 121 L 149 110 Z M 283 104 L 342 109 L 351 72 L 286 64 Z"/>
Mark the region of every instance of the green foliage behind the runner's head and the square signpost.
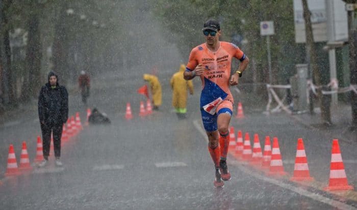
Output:
<path fill-rule="evenodd" d="M 257 69 L 263 75 L 267 68 L 265 37 L 260 36 L 260 21 L 274 21 L 275 35 L 271 37 L 272 67 L 278 74 L 275 80 L 291 76 L 300 50 L 294 40 L 293 1 L 261 0 L 169 0 L 155 1 L 154 13 L 168 28 L 168 35 L 181 47 L 184 55 L 189 49 L 203 42 L 201 27 L 208 18 L 221 22 L 222 40 L 231 41 L 233 35 L 240 35 L 247 44 L 240 47 L 257 62 Z M 284 81 L 285 82 L 285 81 Z"/>

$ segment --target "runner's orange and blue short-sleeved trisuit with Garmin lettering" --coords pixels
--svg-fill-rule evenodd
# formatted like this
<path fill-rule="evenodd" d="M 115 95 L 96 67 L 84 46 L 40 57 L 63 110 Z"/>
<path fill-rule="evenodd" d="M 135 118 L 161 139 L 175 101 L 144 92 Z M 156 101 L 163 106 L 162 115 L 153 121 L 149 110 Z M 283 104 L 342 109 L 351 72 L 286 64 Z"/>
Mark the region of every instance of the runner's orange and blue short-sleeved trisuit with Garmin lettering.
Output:
<path fill-rule="evenodd" d="M 239 47 L 229 42 L 220 42 L 216 52 L 210 51 L 206 43 L 203 43 L 193 48 L 190 53 L 186 71 L 193 71 L 198 64 L 206 68 L 200 75 L 202 81 L 200 108 L 203 127 L 206 131 L 217 130 L 219 114 L 232 115 L 234 100 L 229 82 L 233 57 L 243 61 L 245 54 Z"/>

